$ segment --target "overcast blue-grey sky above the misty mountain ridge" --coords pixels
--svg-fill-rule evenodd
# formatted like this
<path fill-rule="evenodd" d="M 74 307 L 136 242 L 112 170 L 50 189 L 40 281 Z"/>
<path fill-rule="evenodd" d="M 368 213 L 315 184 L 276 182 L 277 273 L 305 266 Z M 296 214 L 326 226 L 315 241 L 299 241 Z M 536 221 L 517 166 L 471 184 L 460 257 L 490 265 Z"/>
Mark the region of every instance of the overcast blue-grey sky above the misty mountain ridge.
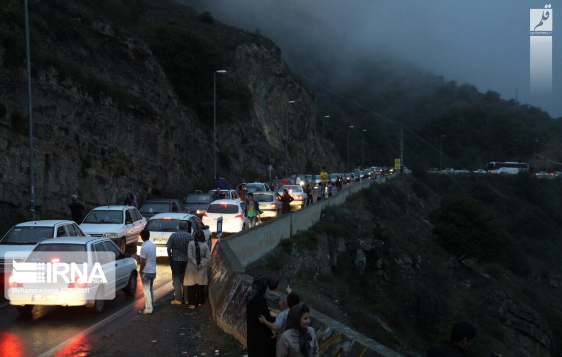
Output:
<path fill-rule="evenodd" d="M 447 81 L 470 83 L 485 93 L 541 107 L 562 116 L 562 7 L 552 4 L 550 94 L 530 91 L 529 9 L 545 3 L 512 0 L 190 0 L 225 24 L 260 29 L 283 57 L 318 48 L 325 58 L 351 60 L 380 49 Z M 560 15 L 558 15 L 560 14 Z M 560 19 L 560 20 L 558 20 Z M 561 24 L 561 25 L 558 25 Z M 560 28 L 560 30 L 558 30 Z M 537 29 L 539 30 L 539 29 Z M 288 61 L 289 64 L 290 60 Z M 331 88 L 337 91 L 337 88 Z"/>

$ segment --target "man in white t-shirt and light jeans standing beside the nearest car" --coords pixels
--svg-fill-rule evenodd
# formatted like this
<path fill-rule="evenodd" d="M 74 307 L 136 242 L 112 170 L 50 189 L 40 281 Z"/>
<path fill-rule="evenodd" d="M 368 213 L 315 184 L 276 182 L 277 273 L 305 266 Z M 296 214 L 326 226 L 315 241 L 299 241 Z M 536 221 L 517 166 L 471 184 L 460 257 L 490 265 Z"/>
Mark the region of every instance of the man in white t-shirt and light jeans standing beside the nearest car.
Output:
<path fill-rule="evenodd" d="M 140 310 L 141 315 L 152 315 L 154 304 L 154 280 L 156 279 L 156 245 L 151 242 L 150 231 L 140 231 L 140 238 L 143 241 L 140 247 L 140 281 L 144 291 L 144 310 Z"/>

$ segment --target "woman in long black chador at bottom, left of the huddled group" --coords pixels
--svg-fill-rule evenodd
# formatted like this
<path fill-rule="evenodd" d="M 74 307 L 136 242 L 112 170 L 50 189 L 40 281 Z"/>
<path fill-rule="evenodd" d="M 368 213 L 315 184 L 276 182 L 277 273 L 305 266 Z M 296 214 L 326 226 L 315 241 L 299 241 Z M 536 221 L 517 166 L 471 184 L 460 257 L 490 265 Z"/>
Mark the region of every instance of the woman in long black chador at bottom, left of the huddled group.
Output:
<path fill-rule="evenodd" d="M 271 330 L 260 323 L 260 315 L 269 322 L 274 319 L 269 314 L 265 301 L 265 290 L 268 289 L 268 278 L 260 275 L 253 279 L 252 289 L 246 297 L 246 344 L 248 357 L 275 357 L 275 338 L 271 338 Z"/>

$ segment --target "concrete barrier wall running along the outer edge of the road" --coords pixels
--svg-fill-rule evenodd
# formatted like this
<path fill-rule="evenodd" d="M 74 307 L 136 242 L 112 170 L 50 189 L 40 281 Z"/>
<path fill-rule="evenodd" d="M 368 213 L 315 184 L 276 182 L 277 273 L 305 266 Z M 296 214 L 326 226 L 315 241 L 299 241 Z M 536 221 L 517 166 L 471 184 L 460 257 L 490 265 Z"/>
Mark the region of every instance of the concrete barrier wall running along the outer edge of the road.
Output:
<path fill-rule="evenodd" d="M 327 200 L 222 239 L 215 246 L 209 264 L 209 302 L 217 326 L 246 346 L 246 296 L 253 278 L 246 274 L 244 266 L 271 251 L 280 240 L 314 225 L 327 205 L 345 202 L 352 193 L 372 182 L 377 181 L 349 185 Z M 402 356 L 313 309 L 311 315 L 321 356 Z"/>

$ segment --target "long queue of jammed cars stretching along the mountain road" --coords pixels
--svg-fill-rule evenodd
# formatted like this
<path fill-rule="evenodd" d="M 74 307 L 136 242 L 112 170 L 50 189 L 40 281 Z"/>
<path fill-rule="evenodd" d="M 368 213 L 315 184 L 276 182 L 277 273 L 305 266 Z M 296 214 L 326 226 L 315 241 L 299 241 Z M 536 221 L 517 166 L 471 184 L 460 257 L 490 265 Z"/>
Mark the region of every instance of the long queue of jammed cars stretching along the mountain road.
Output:
<path fill-rule="evenodd" d="M 85 306 L 93 313 L 101 313 L 104 301 L 114 299 L 117 292 L 135 294 L 138 262 L 132 253 L 139 254 L 143 229 L 150 231 L 157 257 L 167 257 L 166 243 L 182 221 L 191 223 L 192 234 L 202 230 L 211 248 L 212 238 L 217 239 L 219 219 L 221 234 L 249 227 L 244 213 L 248 194 L 259 204 L 261 222 L 282 214 L 285 190 L 292 197 L 289 208 L 293 211 L 328 198 L 344 184 L 385 172 L 369 168 L 331 173 L 325 185 L 320 185 L 319 175 L 308 174 L 291 175 L 269 184 L 243 182 L 235 187 L 218 180 L 215 189 L 206 193 L 197 190 L 183 200 L 149 199 L 139 209 L 134 205 L 99 206 L 79 224 L 68 220 L 22 222 L 0 240 L 4 296 L 20 314 L 30 314 L 36 305 Z M 53 285 L 44 289 L 46 282 Z"/>

